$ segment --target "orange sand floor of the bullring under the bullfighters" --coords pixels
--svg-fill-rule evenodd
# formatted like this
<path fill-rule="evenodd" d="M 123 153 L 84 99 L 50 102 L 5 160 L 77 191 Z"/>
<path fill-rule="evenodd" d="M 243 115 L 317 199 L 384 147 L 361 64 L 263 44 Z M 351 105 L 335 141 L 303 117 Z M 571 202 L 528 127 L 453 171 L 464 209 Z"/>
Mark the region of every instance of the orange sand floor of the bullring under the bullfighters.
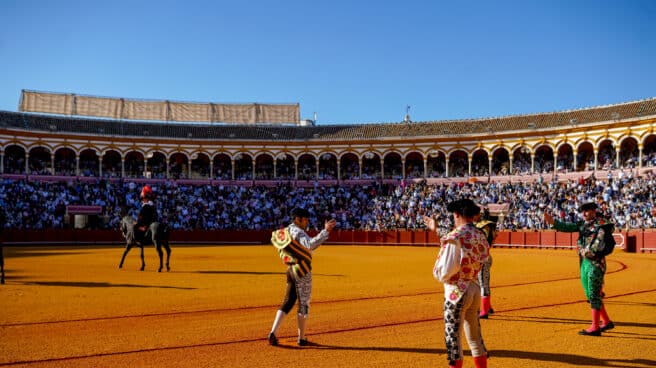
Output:
<path fill-rule="evenodd" d="M 5 248 L 0 366 L 446 367 L 437 248 L 323 246 L 315 253 L 308 338 L 296 318 L 266 335 L 285 268 L 271 246 L 175 246 L 171 272 L 120 247 Z M 481 321 L 490 367 L 656 366 L 656 254 L 609 257 L 606 305 L 616 328 L 589 324 L 576 254 L 494 249 Z M 472 367 L 466 352 L 465 367 Z"/>

